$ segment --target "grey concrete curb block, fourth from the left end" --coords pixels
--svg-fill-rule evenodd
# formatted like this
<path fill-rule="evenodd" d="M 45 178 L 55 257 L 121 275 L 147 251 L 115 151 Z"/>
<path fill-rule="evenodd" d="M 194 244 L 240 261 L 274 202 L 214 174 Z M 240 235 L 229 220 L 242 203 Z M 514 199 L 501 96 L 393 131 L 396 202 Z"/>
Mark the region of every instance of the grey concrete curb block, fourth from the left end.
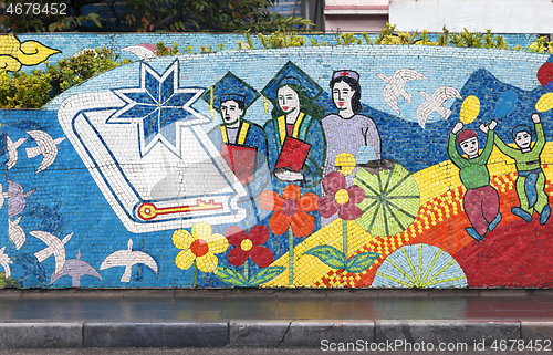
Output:
<path fill-rule="evenodd" d="M 552 323 L 553 324 L 553 323 Z M 521 338 L 521 323 L 504 320 L 379 320 L 375 321 L 377 343 L 404 340 L 408 343 L 470 343 Z"/>

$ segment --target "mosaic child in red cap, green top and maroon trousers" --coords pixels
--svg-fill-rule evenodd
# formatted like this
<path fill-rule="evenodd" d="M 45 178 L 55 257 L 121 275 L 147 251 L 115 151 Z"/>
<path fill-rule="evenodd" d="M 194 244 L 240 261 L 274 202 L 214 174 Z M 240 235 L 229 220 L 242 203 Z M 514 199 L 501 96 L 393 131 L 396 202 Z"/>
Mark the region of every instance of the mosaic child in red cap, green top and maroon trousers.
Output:
<path fill-rule="evenodd" d="M 487 166 L 493 149 L 493 129 L 497 125 L 495 121 L 488 125 L 480 125 L 480 130 L 488 136 L 481 154 L 479 154 L 477 133 L 471 129 L 462 130 L 461 122 L 458 122 L 449 133 L 448 156 L 459 168 L 459 177 L 467 188 L 462 206 L 472 227 L 465 230 L 476 240 L 482 240 L 486 233 L 491 232 L 501 221 L 499 195 L 490 185 L 490 173 Z M 456 142 L 467 158 L 459 154 Z"/>

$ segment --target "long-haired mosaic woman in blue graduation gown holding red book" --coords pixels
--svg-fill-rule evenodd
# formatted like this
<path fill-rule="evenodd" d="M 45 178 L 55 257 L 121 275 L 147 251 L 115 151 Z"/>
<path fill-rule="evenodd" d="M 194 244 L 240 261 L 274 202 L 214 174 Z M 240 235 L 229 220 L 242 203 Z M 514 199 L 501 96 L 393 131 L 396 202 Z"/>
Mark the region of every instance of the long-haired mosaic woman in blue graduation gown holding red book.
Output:
<path fill-rule="evenodd" d="M 320 119 L 323 108 L 303 90 L 300 80 L 283 77 L 276 88 L 272 119 L 264 126 L 269 168 L 278 194 L 286 185 L 320 195 L 325 138 Z"/>

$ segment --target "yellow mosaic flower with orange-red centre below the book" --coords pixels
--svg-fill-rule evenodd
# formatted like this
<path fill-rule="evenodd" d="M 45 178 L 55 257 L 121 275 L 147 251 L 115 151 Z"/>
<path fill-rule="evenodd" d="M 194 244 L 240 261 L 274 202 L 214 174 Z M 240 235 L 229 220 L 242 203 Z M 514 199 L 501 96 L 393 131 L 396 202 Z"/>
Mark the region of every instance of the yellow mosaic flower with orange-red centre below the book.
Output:
<path fill-rule="evenodd" d="M 182 249 L 175 258 L 175 264 L 181 270 L 190 269 L 196 261 L 200 271 L 213 272 L 217 270 L 218 259 L 215 254 L 225 252 L 229 241 L 222 234 L 211 234 L 211 226 L 198 222 L 192 226 L 192 233 L 179 229 L 173 233 L 173 243 Z"/>

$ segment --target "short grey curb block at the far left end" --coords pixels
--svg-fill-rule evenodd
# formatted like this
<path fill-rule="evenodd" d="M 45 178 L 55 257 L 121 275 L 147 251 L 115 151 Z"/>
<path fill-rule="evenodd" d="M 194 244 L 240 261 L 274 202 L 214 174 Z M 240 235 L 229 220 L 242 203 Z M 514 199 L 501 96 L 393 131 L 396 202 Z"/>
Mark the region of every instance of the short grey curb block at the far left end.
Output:
<path fill-rule="evenodd" d="M 82 347 L 83 323 L 0 323 L 0 347 Z"/>

